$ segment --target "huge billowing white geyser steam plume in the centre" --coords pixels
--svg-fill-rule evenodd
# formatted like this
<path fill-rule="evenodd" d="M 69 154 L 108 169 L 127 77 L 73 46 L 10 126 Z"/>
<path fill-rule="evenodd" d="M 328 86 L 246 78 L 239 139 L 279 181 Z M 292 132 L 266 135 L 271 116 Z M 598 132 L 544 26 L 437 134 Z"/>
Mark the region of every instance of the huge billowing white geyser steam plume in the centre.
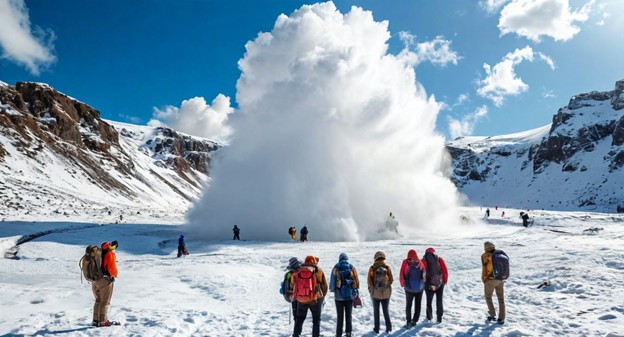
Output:
<path fill-rule="evenodd" d="M 230 145 L 188 215 L 196 237 L 376 240 L 389 212 L 406 237 L 458 222 L 443 176 L 440 109 L 413 65 L 387 53 L 388 23 L 333 3 L 278 17 L 246 44 Z M 424 229 L 427 229 L 424 231 Z"/>

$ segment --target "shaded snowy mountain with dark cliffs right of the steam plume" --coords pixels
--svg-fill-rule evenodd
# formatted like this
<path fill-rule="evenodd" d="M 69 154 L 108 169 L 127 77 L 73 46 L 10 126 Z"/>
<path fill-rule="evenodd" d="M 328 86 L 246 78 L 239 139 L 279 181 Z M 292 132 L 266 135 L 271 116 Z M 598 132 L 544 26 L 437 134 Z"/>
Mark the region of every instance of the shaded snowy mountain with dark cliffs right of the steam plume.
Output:
<path fill-rule="evenodd" d="M 624 212 L 624 80 L 572 97 L 551 125 L 447 149 L 452 179 L 475 204 Z"/>

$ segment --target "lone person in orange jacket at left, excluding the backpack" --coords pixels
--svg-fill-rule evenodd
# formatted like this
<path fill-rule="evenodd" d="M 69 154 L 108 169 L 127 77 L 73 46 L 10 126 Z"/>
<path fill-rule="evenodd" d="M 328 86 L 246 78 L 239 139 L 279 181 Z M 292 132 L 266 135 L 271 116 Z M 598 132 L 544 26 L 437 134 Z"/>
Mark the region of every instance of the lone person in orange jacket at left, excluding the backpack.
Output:
<path fill-rule="evenodd" d="M 117 241 L 102 243 L 102 272 L 104 276 L 99 280 L 91 283 L 91 290 L 95 297 L 93 305 L 93 326 L 111 326 L 118 325 L 118 322 L 108 320 L 108 307 L 110 306 L 111 297 L 113 297 L 113 288 L 115 278 L 117 277 Z"/>

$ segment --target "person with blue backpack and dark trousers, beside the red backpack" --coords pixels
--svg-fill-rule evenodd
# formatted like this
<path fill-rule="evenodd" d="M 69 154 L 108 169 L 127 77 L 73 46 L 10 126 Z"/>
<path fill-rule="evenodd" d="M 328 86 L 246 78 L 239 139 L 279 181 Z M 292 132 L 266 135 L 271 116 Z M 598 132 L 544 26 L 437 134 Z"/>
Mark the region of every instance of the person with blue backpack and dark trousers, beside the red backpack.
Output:
<path fill-rule="evenodd" d="M 360 280 L 357 270 L 349 263 L 347 253 L 340 253 L 338 263 L 331 272 L 329 289 L 334 292 L 336 301 L 336 337 L 342 336 L 342 325 L 346 321 L 346 337 L 351 337 L 351 313 L 353 311 L 353 298 L 360 288 Z"/>

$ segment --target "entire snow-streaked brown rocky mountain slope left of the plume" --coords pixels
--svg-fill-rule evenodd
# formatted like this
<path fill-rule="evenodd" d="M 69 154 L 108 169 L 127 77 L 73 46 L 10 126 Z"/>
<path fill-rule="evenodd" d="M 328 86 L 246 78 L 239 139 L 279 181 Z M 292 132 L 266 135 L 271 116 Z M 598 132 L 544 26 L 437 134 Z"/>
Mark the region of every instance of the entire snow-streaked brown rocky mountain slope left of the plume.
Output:
<path fill-rule="evenodd" d="M 41 83 L 0 85 L 0 218 L 183 213 L 208 179 L 215 142 L 102 120 Z M 45 215 L 45 214 L 43 214 Z"/>

